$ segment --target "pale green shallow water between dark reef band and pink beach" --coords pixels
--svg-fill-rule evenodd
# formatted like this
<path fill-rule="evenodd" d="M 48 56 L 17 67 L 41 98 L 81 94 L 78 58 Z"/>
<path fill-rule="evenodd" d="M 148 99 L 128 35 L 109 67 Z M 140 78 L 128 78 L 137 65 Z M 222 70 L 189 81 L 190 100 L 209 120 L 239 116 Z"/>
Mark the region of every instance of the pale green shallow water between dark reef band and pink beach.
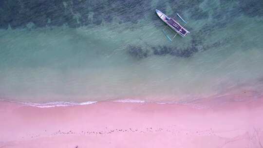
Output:
<path fill-rule="evenodd" d="M 202 38 L 192 33 L 173 42 L 146 22 L 1 30 L 1 98 L 182 101 L 235 88 L 261 91 L 259 19 L 242 16 Z M 197 52 L 175 55 L 190 47 Z"/>

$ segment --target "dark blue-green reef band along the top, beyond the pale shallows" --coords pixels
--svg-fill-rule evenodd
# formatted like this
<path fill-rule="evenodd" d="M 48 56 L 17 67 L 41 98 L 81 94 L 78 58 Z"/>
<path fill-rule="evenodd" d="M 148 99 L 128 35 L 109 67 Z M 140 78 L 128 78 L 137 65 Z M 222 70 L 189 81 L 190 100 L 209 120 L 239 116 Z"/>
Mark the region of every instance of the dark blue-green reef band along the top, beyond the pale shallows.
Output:
<path fill-rule="evenodd" d="M 211 13 L 217 22 L 234 21 L 242 14 L 249 17 L 263 16 L 263 0 L 220 0 L 220 4 L 207 1 L 207 7 L 216 7 L 212 12 L 200 7 L 204 0 L 157 0 L 154 8 L 152 0 L 0 0 L 0 28 L 23 28 L 29 22 L 36 27 L 47 25 L 69 27 L 94 24 L 100 25 L 103 20 L 119 23 L 137 23 L 140 19 L 150 18 L 152 24 L 162 26 L 163 23 L 154 13 L 157 8 L 164 13 L 168 6 L 168 15 L 188 14 L 187 19 L 207 19 Z M 172 16 L 172 15 L 171 15 Z M 219 23 L 222 25 L 224 23 Z"/>

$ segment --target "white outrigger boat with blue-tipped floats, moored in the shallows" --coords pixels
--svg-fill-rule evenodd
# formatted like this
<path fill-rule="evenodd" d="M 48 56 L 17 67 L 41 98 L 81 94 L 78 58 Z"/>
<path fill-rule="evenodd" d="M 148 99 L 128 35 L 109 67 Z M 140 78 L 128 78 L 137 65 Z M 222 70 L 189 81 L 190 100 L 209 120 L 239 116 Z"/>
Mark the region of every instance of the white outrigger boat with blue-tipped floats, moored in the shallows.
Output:
<path fill-rule="evenodd" d="M 178 13 L 176 13 L 176 16 L 178 16 L 180 19 L 183 20 L 183 22 L 185 23 L 183 26 L 181 26 L 177 21 L 175 21 L 174 19 L 172 18 L 169 18 L 167 17 L 164 13 L 162 13 L 161 11 L 159 10 L 155 10 L 157 15 L 159 16 L 159 18 L 161 18 L 166 24 L 168 24 L 168 26 L 174 30 L 176 32 L 176 34 L 173 36 L 173 37 L 169 37 L 166 33 L 167 31 L 165 30 L 167 28 L 167 26 L 163 29 L 163 33 L 165 34 L 165 36 L 170 40 L 172 41 L 172 39 L 174 37 L 176 37 L 176 35 L 180 35 L 182 37 L 186 37 L 186 35 L 188 33 L 190 33 L 188 30 L 186 30 L 184 27 L 186 26 L 187 22 L 181 17 L 179 16 Z M 174 17 L 175 18 L 175 17 Z"/>

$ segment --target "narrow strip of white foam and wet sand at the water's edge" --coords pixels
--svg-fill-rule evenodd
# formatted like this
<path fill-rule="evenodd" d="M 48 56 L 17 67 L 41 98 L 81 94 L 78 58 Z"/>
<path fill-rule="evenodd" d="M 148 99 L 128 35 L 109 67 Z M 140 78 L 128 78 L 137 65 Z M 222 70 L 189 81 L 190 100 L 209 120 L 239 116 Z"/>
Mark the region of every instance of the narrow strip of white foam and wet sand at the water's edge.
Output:
<path fill-rule="evenodd" d="M 172 98 L 172 97 L 169 97 Z M 0 102 L 10 102 L 15 104 L 21 104 L 25 106 L 32 106 L 38 108 L 53 108 L 53 107 L 70 107 L 79 105 L 91 105 L 102 102 L 118 102 L 118 103 L 142 103 L 142 104 L 174 104 L 174 105 L 186 105 L 197 109 L 213 108 L 214 106 L 224 105 L 225 103 L 233 102 L 253 102 L 258 101 L 263 98 L 263 94 L 256 91 L 229 91 L 228 93 L 212 95 L 209 97 L 196 98 L 193 100 L 186 101 L 148 101 L 143 99 L 115 99 L 115 100 L 105 100 L 105 101 L 84 101 L 84 102 L 74 102 L 74 101 L 52 101 L 52 102 L 20 102 L 15 100 L 0 99 Z"/>

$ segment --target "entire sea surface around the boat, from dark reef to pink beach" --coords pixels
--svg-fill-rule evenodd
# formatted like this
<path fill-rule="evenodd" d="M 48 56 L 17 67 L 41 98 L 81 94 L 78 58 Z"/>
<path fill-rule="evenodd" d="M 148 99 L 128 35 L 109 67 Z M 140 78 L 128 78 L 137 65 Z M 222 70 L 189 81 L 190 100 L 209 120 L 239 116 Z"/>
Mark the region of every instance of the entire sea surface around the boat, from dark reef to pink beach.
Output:
<path fill-rule="evenodd" d="M 155 13 L 191 34 L 170 42 Z M 0 99 L 184 102 L 263 92 L 263 0 L 0 0 Z M 141 102 L 138 101 L 138 102 Z"/>

